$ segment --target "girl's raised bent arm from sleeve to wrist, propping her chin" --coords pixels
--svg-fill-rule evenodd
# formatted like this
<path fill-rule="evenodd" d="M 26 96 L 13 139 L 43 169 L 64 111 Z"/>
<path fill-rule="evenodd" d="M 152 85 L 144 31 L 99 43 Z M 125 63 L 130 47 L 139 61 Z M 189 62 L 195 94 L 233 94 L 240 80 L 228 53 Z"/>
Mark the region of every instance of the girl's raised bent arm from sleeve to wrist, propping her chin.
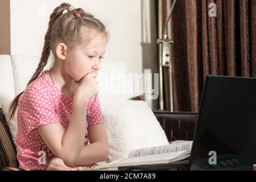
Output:
<path fill-rule="evenodd" d="M 84 137 L 88 101 L 82 101 L 78 97 L 73 98 L 73 111 L 67 131 L 64 131 L 60 123 L 40 125 L 38 131 L 51 152 L 64 160 L 69 167 L 77 166 Z"/>

